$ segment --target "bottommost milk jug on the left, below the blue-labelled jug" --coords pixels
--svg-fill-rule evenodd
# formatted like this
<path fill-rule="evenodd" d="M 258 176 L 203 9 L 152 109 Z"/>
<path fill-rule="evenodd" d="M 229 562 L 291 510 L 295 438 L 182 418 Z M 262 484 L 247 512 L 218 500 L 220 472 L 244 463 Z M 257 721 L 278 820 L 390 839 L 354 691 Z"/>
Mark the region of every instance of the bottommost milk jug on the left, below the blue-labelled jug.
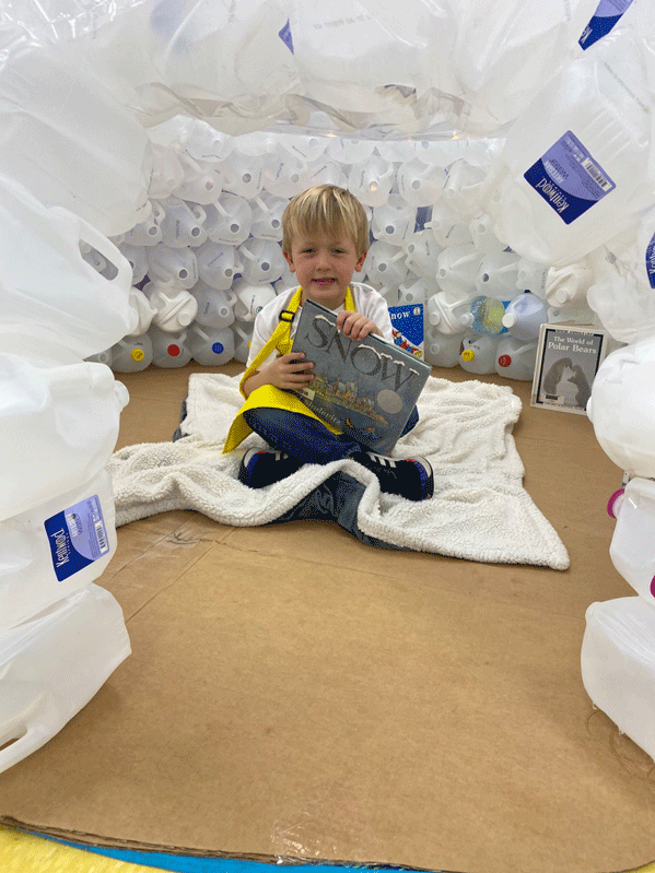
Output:
<path fill-rule="evenodd" d="M 129 654 L 122 610 L 93 582 L 0 635 L 0 772 L 58 733 Z"/>

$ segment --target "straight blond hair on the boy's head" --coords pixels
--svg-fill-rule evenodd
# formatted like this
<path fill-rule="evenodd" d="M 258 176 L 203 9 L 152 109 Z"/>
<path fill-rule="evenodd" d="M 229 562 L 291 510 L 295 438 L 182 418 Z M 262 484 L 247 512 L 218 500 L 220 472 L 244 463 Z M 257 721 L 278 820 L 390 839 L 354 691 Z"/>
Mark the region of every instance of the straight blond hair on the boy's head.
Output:
<path fill-rule="evenodd" d="M 337 234 L 354 243 L 358 255 L 369 248 L 369 219 L 360 201 L 344 188 L 317 185 L 296 194 L 282 214 L 282 251 L 291 255 L 303 234 Z"/>

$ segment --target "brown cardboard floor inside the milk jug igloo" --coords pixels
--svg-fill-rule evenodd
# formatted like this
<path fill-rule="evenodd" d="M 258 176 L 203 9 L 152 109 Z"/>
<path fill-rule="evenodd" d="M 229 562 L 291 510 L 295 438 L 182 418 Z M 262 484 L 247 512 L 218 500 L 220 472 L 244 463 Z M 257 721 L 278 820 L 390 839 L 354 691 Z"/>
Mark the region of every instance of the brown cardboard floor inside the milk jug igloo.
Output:
<path fill-rule="evenodd" d="M 118 447 L 171 438 L 194 370 L 120 377 Z M 180 511 L 121 528 L 98 582 L 133 653 L 0 775 L 0 822 L 463 873 L 653 861 L 653 762 L 580 676 L 586 607 L 633 593 L 608 552 L 621 471 L 586 417 L 531 409 L 530 386 L 511 385 L 524 484 L 569 570 L 374 550 L 331 522 L 235 529 Z"/>

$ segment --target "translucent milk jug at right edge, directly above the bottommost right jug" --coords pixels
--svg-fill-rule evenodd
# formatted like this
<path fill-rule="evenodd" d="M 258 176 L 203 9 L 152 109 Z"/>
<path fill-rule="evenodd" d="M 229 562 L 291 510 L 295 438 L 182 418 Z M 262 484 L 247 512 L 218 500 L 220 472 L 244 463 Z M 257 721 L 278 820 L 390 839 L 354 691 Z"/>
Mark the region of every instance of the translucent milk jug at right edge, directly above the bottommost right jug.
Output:
<path fill-rule="evenodd" d="M 655 606 L 655 482 L 631 479 L 613 504 L 613 514 L 612 564 L 636 593 Z"/>

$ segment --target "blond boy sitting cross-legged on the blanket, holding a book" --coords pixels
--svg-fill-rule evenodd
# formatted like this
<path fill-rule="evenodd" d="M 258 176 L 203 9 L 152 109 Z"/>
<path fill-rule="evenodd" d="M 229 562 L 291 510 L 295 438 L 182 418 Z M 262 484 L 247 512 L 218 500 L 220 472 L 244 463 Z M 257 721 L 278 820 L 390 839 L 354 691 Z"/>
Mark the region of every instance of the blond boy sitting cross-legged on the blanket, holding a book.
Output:
<path fill-rule="evenodd" d="M 291 353 L 295 315 L 305 300 L 331 309 L 346 337 L 375 333 L 393 342 L 387 305 L 374 288 L 352 282 L 369 247 L 369 222 L 359 200 L 343 188 L 320 185 L 291 200 L 282 215 L 282 251 L 300 286 L 267 304 L 255 320 L 247 369 L 241 384 L 246 403 L 235 418 L 224 451 L 255 430 L 274 451 L 248 450 L 239 480 L 264 487 L 296 472 L 303 463 L 352 458 L 372 470 L 381 489 L 410 500 L 433 493 L 424 458 L 394 460 L 367 451 L 355 439 L 315 415 L 290 390 L 312 381 L 313 364 Z M 405 427 L 417 423 L 414 410 Z"/>

